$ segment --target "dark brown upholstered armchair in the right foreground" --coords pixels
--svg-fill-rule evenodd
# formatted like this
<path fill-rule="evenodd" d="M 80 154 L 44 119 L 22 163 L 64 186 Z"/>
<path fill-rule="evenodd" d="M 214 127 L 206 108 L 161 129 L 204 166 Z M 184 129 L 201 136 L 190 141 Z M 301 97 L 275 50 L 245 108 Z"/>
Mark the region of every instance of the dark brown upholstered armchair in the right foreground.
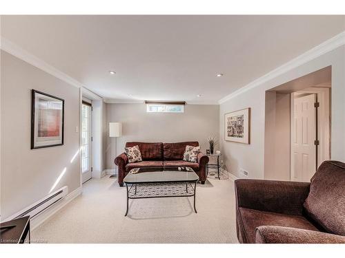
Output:
<path fill-rule="evenodd" d="M 240 243 L 345 243 L 345 164 L 323 162 L 311 183 L 235 180 Z"/>

